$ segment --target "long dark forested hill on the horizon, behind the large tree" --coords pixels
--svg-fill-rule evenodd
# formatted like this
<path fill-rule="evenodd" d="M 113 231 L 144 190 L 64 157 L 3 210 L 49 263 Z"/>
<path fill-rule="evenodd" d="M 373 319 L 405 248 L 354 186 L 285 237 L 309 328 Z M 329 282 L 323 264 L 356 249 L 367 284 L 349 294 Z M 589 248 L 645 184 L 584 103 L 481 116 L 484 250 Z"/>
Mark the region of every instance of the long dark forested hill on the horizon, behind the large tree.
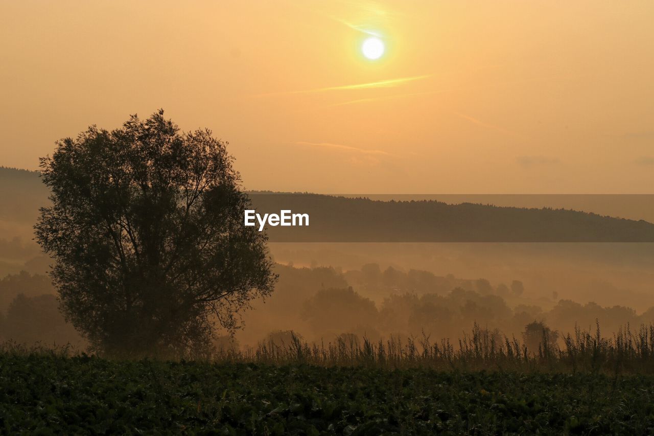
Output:
<path fill-rule="evenodd" d="M 0 221 L 31 225 L 47 204 L 38 172 L 0 168 Z M 258 211 L 309 213 L 309 227 L 269 227 L 271 242 L 654 242 L 654 224 L 566 209 L 320 194 L 250 194 Z M 10 235 L 0 235 L 7 238 Z"/>

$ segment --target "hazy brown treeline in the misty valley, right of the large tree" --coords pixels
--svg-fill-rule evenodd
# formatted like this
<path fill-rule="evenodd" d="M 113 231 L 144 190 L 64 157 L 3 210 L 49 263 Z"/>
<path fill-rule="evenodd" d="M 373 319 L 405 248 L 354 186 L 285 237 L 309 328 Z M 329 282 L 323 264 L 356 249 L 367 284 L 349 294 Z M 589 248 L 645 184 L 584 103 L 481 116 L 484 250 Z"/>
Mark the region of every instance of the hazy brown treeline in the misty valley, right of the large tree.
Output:
<path fill-rule="evenodd" d="M 309 342 L 341 334 L 373 342 L 391 335 L 408 338 L 429 335 L 432 340 L 459 338 L 477 323 L 495 335 L 522 338 L 526 325 L 537 322 L 556 340 L 576 327 L 592 330 L 599 321 L 612 336 L 628 323 L 654 322 L 654 308 L 637 314 L 625 306 L 603 307 L 559 299 L 553 290 L 547 308 L 524 297 L 519 280 L 490 283 L 377 264 L 340 272 L 334 268 L 294 268 L 278 265 L 279 283 L 265 304 L 245 314 L 247 328 L 237 334 L 252 344 L 266 333 L 296 332 Z"/>

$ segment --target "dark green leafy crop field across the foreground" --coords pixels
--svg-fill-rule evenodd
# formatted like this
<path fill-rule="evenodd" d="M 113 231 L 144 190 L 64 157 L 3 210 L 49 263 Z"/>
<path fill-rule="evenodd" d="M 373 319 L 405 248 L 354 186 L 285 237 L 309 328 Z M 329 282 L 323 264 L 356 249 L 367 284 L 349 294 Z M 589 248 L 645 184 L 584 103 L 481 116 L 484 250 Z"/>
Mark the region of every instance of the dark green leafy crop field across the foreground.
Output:
<path fill-rule="evenodd" d="M 0 432 L 651 434 L 654 376 L 5 351 Z"/>

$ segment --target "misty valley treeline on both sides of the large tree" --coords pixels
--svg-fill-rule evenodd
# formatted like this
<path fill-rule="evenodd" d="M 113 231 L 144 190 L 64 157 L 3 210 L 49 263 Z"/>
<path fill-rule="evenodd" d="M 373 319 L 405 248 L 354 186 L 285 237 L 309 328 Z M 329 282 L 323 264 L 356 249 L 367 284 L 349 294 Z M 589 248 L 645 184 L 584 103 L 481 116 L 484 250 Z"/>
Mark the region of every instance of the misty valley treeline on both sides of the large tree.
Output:
<path fill-rule="evenodd" d="M 406 340 L 422 335 L 438 342 L 456 340 L 479 325 L 499 342 L 506 335 L 537 350 L 543 329 L 550 342 L 562 345 L 566 333 L 593 330 L 597 322 L 608 337 L 626 325 L 654 322 L 654 308 L 636 314 L 625 306 L 562 299 L 544 310 L 526 304 L 518 280 L 494 285 L 485 279 L 440 277 L 419 270 L 381 270 L 377 264 L 347 272 L 278 264 L 276 272 L 280 278 L 275 292 L 245 312 L 245 330 L 235 338 L 218 336 L 216 346 L 240 349 L 271 340 L 288 343 L 290 331 L 318 343 L 343 335 L 358 344 L 364 338 L 376 343 L 390 336 Z M 0 340 L 81 344 L 59 313 L 54 292 L 42 274 L 22 272 L 0 280 Z M 368 295 L 376 295 L 377 301 Z"/>

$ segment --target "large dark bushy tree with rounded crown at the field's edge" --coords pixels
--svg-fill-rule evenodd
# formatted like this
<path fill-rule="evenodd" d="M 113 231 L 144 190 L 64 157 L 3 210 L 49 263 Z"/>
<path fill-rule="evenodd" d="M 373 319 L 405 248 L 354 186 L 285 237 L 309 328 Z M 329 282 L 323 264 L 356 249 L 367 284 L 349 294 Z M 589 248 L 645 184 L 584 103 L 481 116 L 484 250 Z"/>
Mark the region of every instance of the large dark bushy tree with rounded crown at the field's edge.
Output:
<path fill-rule="evenodd" d="M 66 318 L 97 350 L 205 350 L 216 322 L 233 331 L 271 293 L 266 236 L 243 225 L 249 199 L 209 130 L 182 133 L 159 111 L 56 145 L 35 232 Z"/>

